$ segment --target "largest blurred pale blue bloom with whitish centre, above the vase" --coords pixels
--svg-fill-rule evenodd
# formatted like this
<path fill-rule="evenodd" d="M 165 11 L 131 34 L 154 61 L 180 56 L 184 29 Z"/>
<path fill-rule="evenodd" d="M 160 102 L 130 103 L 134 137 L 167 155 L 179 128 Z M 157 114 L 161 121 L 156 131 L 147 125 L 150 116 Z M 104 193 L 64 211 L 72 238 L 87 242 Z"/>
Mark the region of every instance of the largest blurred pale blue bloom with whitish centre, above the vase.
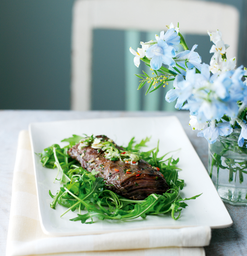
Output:
<path fill-rule="evenodd" d="M 238 71 L 235 75 L 238 77 Z M 228 71 L 221 75 L 215 74 L 210 77 L 209 66 L 202 65 L 201 74 L 196 74 L 196 82 L 193 88 L 193 100 L 188 100 L 188 103 L 183 106 L 183 109 L 189 109 L 191 115 L 197 115 L 200 122 L 216 119 L 220 121 L 223 115 L 228 115 L 231 119 L 238 116 L 238 103 L 235 100 L 234 90 L 230 90 L 235 86 L 232 77 L 234 71 Z M 188 83 L 189 79 L 186 79 Z M 246 88 L 247 90 L 247 88 Z M 242 90 L 243 93 L 244 90 Z"/>

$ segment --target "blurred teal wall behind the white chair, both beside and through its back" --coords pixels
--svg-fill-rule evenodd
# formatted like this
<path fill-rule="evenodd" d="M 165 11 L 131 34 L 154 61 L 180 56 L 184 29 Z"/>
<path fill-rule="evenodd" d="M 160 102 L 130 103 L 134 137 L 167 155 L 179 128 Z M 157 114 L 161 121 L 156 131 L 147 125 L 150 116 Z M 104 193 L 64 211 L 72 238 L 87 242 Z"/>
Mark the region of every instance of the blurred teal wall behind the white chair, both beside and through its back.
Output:
<path fill-rule="evenodd" d="M 247 66 L 247 1 L 217 2 L 232 4 L 240 11 L 238 65 Z M 0 109 L 70 109 L 73 3 L 0 0 Z M 145 96 L 145 88 L 138 92 L 132 89 L 137 88 L 138 79 L 126 77 L 145 68 L 142 65 L 137 70 L 133 62 L 131 67 L 128 64 L 134 57 L 129 47 L 138 47 L 132 35 L 146 41 L 150 33 L 94 31 L 93 110 L 173 109 L 164 102 L 168 88 Z M 189 48 L 198 44 L 203 62 L 209 63 L 211 43 L 207 36 L 186 35 L 186 41 Z"/>

